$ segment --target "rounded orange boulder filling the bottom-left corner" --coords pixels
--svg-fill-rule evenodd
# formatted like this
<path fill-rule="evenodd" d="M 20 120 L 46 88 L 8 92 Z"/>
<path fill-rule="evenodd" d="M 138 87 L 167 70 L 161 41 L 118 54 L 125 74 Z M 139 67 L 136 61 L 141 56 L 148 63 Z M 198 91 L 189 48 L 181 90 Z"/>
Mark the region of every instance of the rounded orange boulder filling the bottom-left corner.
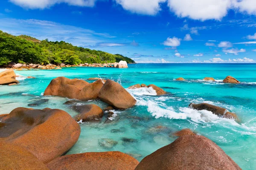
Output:
<path fill-rule="evenodd" d="M 23 147 L 0 141 L 0 170 L 49 170 Z"/>

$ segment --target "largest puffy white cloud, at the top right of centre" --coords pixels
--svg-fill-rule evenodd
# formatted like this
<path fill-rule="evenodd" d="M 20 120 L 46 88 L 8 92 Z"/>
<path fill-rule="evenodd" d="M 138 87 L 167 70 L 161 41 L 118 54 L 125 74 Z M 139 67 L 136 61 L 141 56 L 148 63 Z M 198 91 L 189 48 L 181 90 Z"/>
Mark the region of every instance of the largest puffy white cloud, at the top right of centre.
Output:
<path fill-rule="evenodd" d="M 168 0 L 168 6 L 178 17 L 220 20 L 232 3 L 231 0 Z"/>

